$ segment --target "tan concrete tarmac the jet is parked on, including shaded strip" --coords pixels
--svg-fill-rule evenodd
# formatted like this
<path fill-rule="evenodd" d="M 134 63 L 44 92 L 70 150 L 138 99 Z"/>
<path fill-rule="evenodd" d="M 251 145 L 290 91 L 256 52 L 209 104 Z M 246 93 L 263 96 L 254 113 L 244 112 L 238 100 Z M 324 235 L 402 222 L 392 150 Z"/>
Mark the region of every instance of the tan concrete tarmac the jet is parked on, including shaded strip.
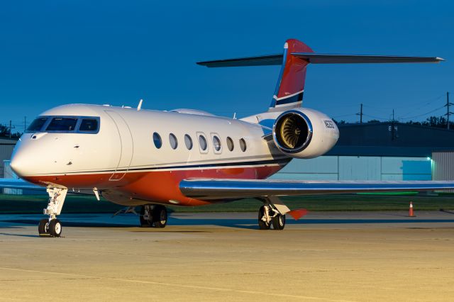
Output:
<path fill-rule="evenodd" d="M 0 215 L 0 301 L 453 301 L 454 213 L 309 213 L 258 230 L 256 213 Z"/>

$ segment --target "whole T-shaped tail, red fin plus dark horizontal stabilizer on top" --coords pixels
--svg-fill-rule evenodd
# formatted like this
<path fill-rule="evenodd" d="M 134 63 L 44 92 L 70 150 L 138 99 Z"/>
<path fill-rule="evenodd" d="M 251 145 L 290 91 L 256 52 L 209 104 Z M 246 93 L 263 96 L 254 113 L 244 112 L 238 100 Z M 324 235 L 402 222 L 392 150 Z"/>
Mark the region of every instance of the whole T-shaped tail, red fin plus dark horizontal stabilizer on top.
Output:
<path fill-rule="evenodd" d="M 440 57 L 408 57 L 397 55 L 335 55 L 316 53 L 311 47 L 296 39 L 284 44 L 284 52 L 278 55 L 241 57 L 237 59 L 198 62 L 206 67 L 242 67 L 281 65 L 275 94 L 269 111 L 287 111 L 302 106 L 306 68 L 309 64 L 341 63 L 438 63 Z"/>

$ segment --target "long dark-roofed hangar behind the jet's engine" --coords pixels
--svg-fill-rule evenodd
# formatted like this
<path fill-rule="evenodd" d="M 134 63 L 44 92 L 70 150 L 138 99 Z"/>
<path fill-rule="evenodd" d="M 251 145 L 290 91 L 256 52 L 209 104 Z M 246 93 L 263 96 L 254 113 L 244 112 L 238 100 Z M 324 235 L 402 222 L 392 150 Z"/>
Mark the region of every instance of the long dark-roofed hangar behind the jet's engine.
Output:
<path fill-rule="evenodd" d="M 330 152 L 311 160 L 292 160 L 272 178 L 431 180 L 433 168 L 445 167 L 454 154 L 454 130 L 392 122 L 340 124 L 338 128 L 341 135 Z M 443 152 L 445 157 L 436 156 L 437 164 L 433 152 Z"/>

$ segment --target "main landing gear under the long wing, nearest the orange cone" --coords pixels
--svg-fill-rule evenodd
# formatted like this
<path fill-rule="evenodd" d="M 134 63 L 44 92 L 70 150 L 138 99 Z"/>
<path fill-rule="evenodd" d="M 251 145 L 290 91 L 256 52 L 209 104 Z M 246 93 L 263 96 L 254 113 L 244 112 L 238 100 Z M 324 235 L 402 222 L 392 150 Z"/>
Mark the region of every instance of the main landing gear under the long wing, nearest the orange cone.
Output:
<path fill-rule="evenodd" d="M 262 200 L 264 205 L 258 210 L 258 226 L 260 230 L 284 230 L 285 213 L 290 209 L 279 198 L 270 196 Z"/>

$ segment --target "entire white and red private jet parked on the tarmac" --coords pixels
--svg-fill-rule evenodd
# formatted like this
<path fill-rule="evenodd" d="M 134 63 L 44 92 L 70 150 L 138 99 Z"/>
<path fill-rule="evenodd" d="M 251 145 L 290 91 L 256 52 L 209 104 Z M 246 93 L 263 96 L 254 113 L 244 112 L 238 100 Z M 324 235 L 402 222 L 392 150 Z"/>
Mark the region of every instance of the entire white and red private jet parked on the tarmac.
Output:
<path fill-rule="evenodd" d="M 18 140 L 11 168 L 21 180 L 0 187 L 37 186 L 49 195 L 41 236 L 60 237 L 57 219 L 68 192 L 127 207 L 140 206 L 140 225 L 164 228 L 166 206 L 204 206 L 258 198 L 258 226 L 282 230 L 286 214 L 279 196 L 454 189 L 454 181 L 288 181 L 267 179 L 293 158 L 319 157 L 336 144 L 333 119 L 303 108 L 309 64 L 436 63 L 439 57 L 333 55 L 289 39 L 277 55 L 198 62 L 205 67 L 280 65 L 266 112 L 245 118 L 194 109 L 153 111 L 110 105 L 69 104 L 41 113 Z"/>

